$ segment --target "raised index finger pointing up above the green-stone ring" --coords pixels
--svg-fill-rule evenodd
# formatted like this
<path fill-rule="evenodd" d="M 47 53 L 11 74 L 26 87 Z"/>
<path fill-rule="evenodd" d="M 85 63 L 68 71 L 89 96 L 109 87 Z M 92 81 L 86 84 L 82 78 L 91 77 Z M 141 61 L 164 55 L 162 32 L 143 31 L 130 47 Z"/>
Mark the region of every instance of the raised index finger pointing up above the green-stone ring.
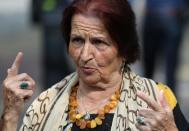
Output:
<path fill-rule="evenodd" d="M 22 58 L 23 58 L 23 53 L 19 52 L 12 64 L 11 68 L 8 69 L 8 71 L 7 71 L 8 77 L 12 77 L 12 76 L 15 76 L 18 74 Z"/>

